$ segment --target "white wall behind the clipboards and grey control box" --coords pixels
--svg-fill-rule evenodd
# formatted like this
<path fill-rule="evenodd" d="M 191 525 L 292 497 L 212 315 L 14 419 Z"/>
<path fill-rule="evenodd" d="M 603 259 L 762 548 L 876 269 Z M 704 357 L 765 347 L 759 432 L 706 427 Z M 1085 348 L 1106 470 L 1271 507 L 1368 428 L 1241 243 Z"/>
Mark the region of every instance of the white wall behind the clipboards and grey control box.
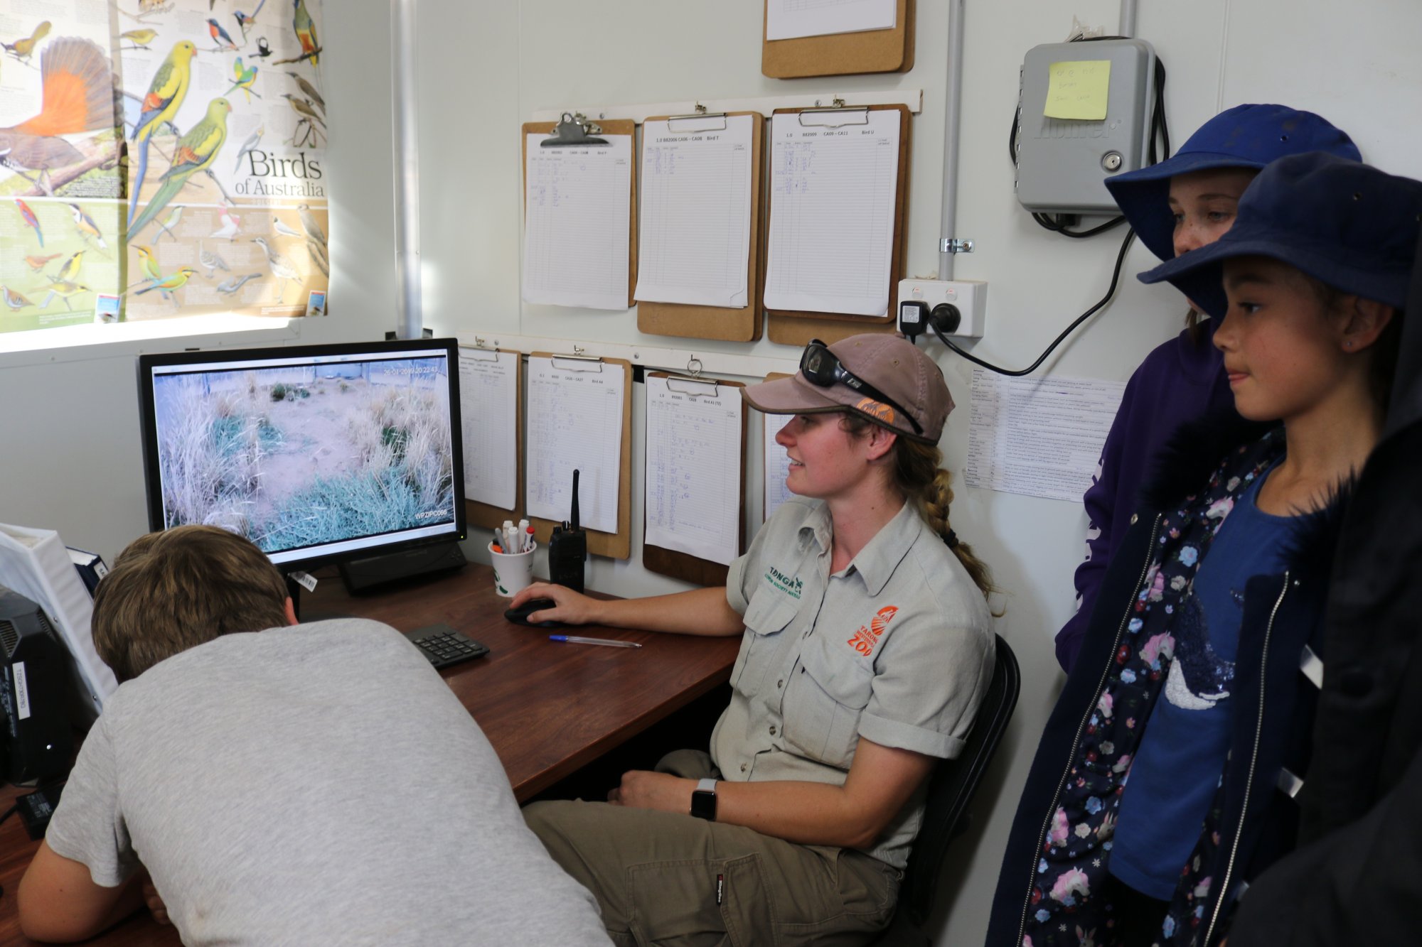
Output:
<path fill-rule="evenodd" d="M 336 0 L 327 1 L 334 10 Z M 394 326 L 388 4 L 343 0 L 328 16 L 323 55 L 331 105 L 331 311 L 303 340 L 375 338 Z M 512 333 L 552 338 L 687 343 L 641 336 L 633 313 L 519 301 L 520 122 L 574 102 L 636 104 L 785 92 L 921 88 L 913 127 L 909 274 L 937 270 L 943 162 L 943 0 L 919 0 L 917 65 L 904 75 L 778 81 L 761 75 L 764 0 L 419 0 L 421 239 L 425 324 L 437 334 Z M 1118 242 L 1054 237 L 1017 206 L 1005 158 L 1022 54 L 1065 38 L 1072 14 L 1113 33 L 1115 0 L 967 0 L 963 149 L 957 235 L 977 240 L 961 279 L 991 282 L 980 355 L 1027 364 L 1105 290 Z M 1140 4 L 1138 34 L 1169 67 L 1166 94 L 1179 145 L 1221 107 L 1283 101 L 1347 128 L 1365 158 L 1422 176 L 1422 4 L 1415 0 L 1197 0 Z M 327 65 L 328 64 L 328 65 Z M 1135 273 L 1152 263 L 1139 246 Z M 1169 289 L 1123 280 L 1115 304 L 1066 344 L 1048 371 L 1125 380 L 1172 336 L 1183 304 Z M 175 341 L 169 347 L 205 344 Z M 788 347 L 694 343 L 707 350 L 793 358 Z M 936 343 L 958 411 L 943 446 L 967 452 L 970 373 Z M 0 358 L 0 522 L 54 526 L 73 545 L 112 556 L 146 523 L 137 445 L 132 351 L 82 361 Z M 641 405 L 637 404 L 637 418 Z M 640 422 L 638 422 L 640 425 Z M 640 456 L 640 454 L 634 454 Z M 633 496 L 640 495 L 634 462 Z M 755 485 L 751 485 L 755 489 Z M 633 522 L 640 520 L 640 505 Z M 1022 664 L 1017 718 L 980 793 L 977 823 L 954 849 L 936 920 L 939 943 L 975 944 L 985 930 L 1008 819 L 1035 735 L 1059 685 L 1052 631 L 1072 607 L 1071 572 L 1084 519 L 1074 503 L 960 488 L 954 528 L 1008 589 L 998 630 Z M 633 530 L 640 533 L 638 529 Z M 471 549 L 475 543 L 471 543 Z M 634 594 L 671 587 L 636 563 L 597 562 L 594 587 Z M 951 896 L 951 900 L 950 900 Z"/>

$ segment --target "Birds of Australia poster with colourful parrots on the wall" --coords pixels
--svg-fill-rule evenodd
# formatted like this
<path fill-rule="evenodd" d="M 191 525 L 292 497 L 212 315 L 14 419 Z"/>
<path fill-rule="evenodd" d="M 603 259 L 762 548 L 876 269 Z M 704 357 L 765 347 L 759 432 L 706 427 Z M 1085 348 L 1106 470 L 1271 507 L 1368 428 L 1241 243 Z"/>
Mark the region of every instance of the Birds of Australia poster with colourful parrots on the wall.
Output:
<path fill-rule="evenodd" d="M 324 299 L 320 34 L 320 0 L 0 13 L 0 331 Z"/>

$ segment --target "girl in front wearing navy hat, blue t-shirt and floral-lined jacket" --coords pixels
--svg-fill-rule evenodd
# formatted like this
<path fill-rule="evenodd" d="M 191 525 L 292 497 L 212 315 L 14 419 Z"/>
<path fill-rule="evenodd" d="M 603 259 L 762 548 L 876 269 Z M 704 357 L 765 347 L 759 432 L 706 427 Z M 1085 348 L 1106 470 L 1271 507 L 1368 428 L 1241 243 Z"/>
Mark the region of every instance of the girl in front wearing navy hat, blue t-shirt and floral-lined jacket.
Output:
<path fill-rule="evenodd" d="M 1295 847 L 1332 556 L 1419 228 L 1422 182 L 1293 155 L 1219 240 L 1142 274 L 1220 320 L 1237 415 L 1183 428 L 1140 495 L 1018 803 L 993 947 L 1216 947 Z"/>

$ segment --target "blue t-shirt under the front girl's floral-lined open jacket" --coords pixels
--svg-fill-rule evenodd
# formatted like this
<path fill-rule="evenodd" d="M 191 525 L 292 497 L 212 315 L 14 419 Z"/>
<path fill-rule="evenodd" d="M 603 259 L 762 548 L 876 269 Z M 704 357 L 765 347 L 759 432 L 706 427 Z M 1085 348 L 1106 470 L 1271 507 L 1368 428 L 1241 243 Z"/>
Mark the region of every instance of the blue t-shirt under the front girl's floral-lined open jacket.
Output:
<path fill-rule="evenodd" d="M 1170 674 L 1121 798 L 1111 873 L 1159 900 L 1175 893 L 1224 772 L 1244 584 L 1284 569 L 1293 519 L 1258 509 L 1267 476 L 1236 501 L 1180 600 Z"/>

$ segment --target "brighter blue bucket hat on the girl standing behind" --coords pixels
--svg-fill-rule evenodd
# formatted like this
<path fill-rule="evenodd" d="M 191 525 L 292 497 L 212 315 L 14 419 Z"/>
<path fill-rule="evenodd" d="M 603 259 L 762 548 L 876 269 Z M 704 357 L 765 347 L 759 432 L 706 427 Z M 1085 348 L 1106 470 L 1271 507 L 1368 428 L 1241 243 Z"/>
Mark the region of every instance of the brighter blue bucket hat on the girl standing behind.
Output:
<path fill-rule="evenodd" d="M 1169 260 L 1175 256 L 1170 178 L 1207 168 L 1263 168 L 1307 151 L 1362 161 L 1352 139 L 1320 115 L 1287 105 L 1236 105 L 1200 125 L 1173 156 L 1106 178 L 1106 189 L 1140 242 Z"/>

